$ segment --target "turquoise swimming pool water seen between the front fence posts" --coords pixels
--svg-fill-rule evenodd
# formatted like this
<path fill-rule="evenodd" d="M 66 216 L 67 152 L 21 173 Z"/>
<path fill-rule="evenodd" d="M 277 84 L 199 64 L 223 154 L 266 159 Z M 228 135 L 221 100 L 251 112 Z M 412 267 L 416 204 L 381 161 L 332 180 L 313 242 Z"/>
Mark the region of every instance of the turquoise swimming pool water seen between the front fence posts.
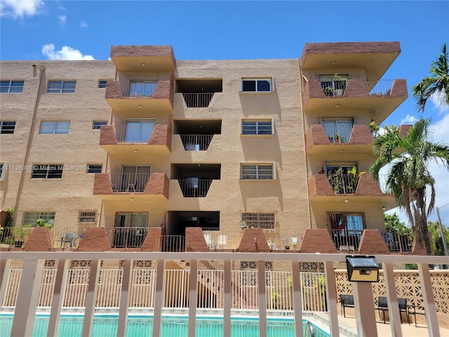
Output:
<path fill-rule="evenodd" d="M 188 319 L 177 317 L 163 317 L 161 326 L 161 337 L 187 336 Z M 305 330 L 303 321 L 303 330 Z M 93 337 L 115 336 L 117 331 L 118 317 L 95 316 L 93 321 Z M 0 315 L 0 336 L 9 336 L 13 325 L 13 315 Z M 48 327 L 48 316 L 36 316 L 34 322 L 33 337 L 46 336 Z M 328 337 L 328 333 L 314 326 L 316 337 Z M 58 336 L 81 337 L 83 330 L 82 316 L 61 316 Z M 147 337 L 152 336 L 152 317 L 128 317 L 126 336 Z M 220 318 L 197 318 L 196 336 L 223 336 L 223 320 Z M 232 319 L 232 337 L 257 337 L 259 336 L 259 321 L 254 318 Z M 295 336 L 295 322 L 292 319 L 268 319 L 267 336 L 269 337 L 293 337 Z"/>

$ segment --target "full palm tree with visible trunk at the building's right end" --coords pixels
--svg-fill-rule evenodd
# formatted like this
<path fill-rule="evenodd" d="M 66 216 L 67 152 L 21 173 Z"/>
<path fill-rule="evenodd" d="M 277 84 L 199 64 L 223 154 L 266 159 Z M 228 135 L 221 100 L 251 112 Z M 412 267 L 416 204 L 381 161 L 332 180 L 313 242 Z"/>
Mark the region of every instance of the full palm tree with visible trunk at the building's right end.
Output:
<path fill-rule="evenodd" d="M 370 175 L 379 181 L 380 169 L 389 165 L 387 188 L 406 211 L 415 240 L 420 246 L 425 245 L 427 255 L 431 254 L 427 216 L 435 206 L 435 180 L 428 170 L 429 163 L 441 161 L 449 169 L 449 146 L 429 141 L 429 123 L 430 119 L 420 119 L 407 136 L 402 136 L 396 127 L 387 127 L 386 133 L 373 141 L 377 159 L 370 167 Z"/>

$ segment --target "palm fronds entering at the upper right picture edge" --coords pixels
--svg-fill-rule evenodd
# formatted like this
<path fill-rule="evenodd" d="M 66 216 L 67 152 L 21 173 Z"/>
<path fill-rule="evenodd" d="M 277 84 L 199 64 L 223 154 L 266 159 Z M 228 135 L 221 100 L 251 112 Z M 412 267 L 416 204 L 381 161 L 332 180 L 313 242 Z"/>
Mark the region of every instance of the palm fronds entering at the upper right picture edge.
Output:
<path fill-rule="evenodd" d="M 441 103 L 449 105 L 449 61 L 446 44 L 441 48 L 441 55 L 431 63 L 431 77 L 422 79 L 412 87 L 413 98 L 417 101 L 418 111 L 424 112 L 424 106 L 431 95 L 436 94 Z"/>

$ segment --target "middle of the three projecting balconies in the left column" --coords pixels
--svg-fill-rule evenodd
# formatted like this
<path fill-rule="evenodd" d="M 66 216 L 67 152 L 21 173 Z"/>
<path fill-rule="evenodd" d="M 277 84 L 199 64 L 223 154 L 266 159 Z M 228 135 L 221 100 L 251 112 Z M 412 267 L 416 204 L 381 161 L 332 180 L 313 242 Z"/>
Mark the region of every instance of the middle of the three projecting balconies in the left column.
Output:
<path fill-rule="evenodd" d="M 169 154 L 171 131 L 168 125 L 102 126 L 100 145 L 109 154 L 126 154 L 138 150 L 142 155 Z"/>

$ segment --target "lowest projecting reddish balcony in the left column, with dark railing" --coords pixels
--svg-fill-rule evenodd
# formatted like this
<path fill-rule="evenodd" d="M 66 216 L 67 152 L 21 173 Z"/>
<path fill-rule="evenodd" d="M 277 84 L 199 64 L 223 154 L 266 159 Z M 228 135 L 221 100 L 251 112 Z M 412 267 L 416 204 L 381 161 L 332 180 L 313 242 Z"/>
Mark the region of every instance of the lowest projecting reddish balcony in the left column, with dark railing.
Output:
<path fill-rule="evenodd" d="M 93 194 L 103 200 L 168 199 L 165 173 L 95 173 Z"/>

